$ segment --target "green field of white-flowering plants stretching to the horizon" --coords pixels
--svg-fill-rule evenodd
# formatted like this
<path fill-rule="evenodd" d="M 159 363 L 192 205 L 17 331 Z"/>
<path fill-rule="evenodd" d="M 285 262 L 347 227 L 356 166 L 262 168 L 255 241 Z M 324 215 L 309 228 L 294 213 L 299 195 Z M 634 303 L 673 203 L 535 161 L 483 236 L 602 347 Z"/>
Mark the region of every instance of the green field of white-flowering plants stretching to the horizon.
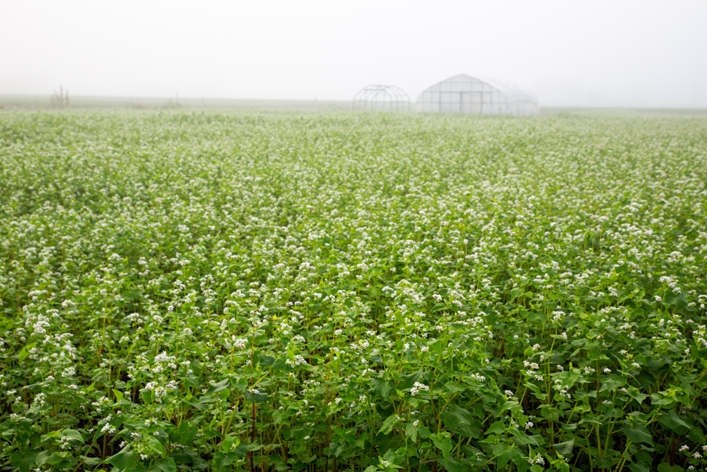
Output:
<path fill-rule="evenodd" d="M 0 113 L 5 471 L 704 470 L 707 117 Z"/>

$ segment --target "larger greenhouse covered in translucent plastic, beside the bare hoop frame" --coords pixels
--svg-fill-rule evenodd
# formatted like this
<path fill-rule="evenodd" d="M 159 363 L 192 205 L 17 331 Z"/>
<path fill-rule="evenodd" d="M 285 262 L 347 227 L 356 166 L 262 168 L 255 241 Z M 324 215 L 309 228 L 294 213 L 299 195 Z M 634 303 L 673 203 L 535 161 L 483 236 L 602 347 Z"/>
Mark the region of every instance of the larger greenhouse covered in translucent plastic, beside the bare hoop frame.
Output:
<path fill-rule="evenodd" d="M 537 98 L 514 86 L 460 74 L 420 93 L 415 110 L 527 116 L 537 115 L 540 112 L 540 105 Z"/>

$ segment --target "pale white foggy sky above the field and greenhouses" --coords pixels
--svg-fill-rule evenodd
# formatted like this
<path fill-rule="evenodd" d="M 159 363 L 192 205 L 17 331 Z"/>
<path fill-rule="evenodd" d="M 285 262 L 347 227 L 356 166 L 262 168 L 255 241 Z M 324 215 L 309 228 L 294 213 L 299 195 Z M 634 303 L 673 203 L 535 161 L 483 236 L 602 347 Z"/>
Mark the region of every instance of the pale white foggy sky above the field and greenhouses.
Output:
<path fill-rule="evenodd" d="M 541 106 L 707 108 L 707 0 L 5 0 L 0 45 L 0 94 L 414 100 L 478 74 Z"/>

